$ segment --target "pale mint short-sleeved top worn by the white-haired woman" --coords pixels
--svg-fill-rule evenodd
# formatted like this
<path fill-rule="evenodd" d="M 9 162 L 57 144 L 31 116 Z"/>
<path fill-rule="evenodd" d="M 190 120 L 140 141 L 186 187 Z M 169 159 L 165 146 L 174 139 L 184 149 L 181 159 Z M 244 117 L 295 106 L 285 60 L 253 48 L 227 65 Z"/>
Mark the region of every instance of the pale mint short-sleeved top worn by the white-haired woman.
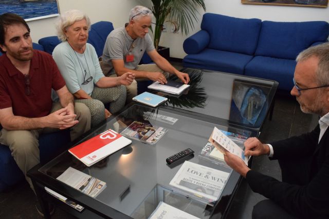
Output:
<path fill-rule="evenodd" d="M 52 57 L 71 93 L 82 89 L 88 95 L 92 95 L 94 84 L 104 77 L 96 50 L 88 43 L 83 54 L 75 52 L 67 42 L 60 43 L 53 50 Z M 90 76 L 93 77 L 92 81 L 83 83 Z"/>

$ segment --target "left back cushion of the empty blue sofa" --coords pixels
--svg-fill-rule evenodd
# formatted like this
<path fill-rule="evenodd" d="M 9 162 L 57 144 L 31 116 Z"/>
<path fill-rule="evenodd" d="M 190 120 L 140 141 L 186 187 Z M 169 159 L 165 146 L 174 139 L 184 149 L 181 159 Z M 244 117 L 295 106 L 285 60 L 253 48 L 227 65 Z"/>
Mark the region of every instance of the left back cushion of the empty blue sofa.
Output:
<path fill-rule="evenodd" d="M 201 29 L 210 35 L 208 48 L 252 55 L 256 49 L 262 21 L 205 13 Z"/>

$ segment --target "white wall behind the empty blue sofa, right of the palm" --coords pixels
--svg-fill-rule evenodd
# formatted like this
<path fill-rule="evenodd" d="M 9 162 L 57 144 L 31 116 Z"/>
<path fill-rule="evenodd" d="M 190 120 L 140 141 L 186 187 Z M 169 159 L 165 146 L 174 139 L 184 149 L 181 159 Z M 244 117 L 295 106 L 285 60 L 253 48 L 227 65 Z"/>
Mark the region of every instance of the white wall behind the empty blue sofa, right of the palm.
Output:
<path fill-rule="evenodd" d="M 241 0 L 205 0 L 207 12 L 223 14 L 240 18 L 260 18 L 263 21 L 301 22 L 326 21 L 329 22 L 329 8 L 272 6 L 272 5 L 246 5 Z M 203 13 L 203 12 L 202 12 Z M 195 30 L 200 29 L 202 16 Z M 185 35 L 181 33 L 163 33 L 160 39 L 161 46 L 170 47 L 170 56 L 183 58 L 186 53 L 182 48 Z"/>

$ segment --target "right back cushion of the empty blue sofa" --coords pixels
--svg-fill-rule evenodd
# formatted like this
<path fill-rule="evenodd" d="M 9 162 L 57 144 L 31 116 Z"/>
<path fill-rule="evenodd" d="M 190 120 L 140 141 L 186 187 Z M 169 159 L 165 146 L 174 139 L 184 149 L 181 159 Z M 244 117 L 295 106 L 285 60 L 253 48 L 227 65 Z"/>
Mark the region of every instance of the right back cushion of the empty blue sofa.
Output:
<path fill-rule="evenodd" d="M 255 55 L 295 59 L 315 42 L 325 42 L 329 35 L 327 22 L 264 21 Z"/>

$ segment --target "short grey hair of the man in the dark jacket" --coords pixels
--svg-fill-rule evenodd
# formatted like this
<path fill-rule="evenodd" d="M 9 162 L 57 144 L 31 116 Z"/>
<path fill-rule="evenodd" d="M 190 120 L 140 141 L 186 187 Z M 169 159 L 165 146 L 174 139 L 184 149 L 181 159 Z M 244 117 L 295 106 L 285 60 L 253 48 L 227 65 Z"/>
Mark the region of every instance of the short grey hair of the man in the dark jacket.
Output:
<path fill-rule="evenodd" d="M 296 61 L 302 62 L 313 56 L 319 58 L 318 70 L 316 72 L 318 86 L 329 85 L 329 43 L 323 43 L 305 49 L 299 53 Z"/>

